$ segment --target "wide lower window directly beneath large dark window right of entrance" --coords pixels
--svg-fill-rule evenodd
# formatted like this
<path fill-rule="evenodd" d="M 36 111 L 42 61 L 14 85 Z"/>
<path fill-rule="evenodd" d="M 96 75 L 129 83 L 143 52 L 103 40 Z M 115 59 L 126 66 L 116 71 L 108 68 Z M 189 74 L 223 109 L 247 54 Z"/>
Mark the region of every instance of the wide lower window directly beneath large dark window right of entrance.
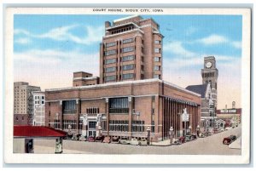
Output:
<path fill-rule="evenodd" d="M 110 120 L 109 121 L 109 130 L 110 131 L 128 132 L 129 131 L 129 121 L 127 121 L 127 120 Z"/>

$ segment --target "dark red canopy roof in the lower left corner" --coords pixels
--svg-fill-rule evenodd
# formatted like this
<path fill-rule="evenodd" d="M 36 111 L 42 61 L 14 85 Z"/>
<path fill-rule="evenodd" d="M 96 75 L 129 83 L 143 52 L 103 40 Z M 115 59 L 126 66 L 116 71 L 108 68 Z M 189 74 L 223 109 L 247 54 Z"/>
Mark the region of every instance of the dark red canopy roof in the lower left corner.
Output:
<path fill-rule="evenodd" d="M 39 137 L 65 137 L 66 132 L 44 126 L 14 126 L 15 138 L 39 138 Z"/>

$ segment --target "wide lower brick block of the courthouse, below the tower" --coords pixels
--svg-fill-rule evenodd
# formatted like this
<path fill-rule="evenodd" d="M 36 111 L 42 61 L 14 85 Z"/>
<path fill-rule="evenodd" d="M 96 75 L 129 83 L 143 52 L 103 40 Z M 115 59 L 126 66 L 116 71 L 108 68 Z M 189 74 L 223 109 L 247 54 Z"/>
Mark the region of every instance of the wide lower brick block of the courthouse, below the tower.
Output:
<path fill-rule="evenodd" d="M 73 134 L 150 137 L 154 141 L 196 133 L 201 95 L 159 79 L 46 89 L 45 121 Z M 184 109 L 189 120 L 183 121 Z M 189 130 L 189 126 L 191 130 Z"/>

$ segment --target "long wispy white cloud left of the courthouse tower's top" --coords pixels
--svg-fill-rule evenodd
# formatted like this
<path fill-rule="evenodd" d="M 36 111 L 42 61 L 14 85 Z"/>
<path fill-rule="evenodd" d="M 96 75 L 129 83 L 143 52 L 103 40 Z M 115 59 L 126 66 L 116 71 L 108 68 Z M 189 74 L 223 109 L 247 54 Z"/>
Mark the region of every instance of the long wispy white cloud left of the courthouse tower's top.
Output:
<path fill-rule="evenodd" d="M 70 31 L 73 29 L 83 29 L 84 36 L 78 37 L 73 35 Z M 42 34 L 33 34 L 29 31 L 22 29 L 15 29 L 15 34 L 23 34 L 27 37 L 34 38 L 49 38 L 55 41 L 71 41 L 79 44 L 89 45 L 91 43 L 100 42 L 104 33 L 103 26 L 80 26 L 80 25 L 71 25 L 71 26 L 61 26 L 53 28 Z"/>

